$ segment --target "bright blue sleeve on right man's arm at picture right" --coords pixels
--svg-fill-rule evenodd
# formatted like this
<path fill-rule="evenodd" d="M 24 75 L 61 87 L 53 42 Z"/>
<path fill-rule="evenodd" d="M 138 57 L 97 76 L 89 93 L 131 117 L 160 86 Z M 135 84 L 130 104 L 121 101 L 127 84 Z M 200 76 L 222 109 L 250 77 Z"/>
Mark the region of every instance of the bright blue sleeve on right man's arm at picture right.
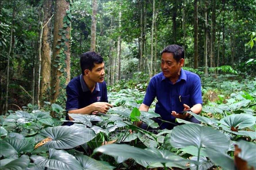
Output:
<path fill-rule="evenodd" d="M 202 104 L 203 101 L 200 77 L 197 75 L 193 80 L 194 82 L 190 93 L 192 105 Z"/>

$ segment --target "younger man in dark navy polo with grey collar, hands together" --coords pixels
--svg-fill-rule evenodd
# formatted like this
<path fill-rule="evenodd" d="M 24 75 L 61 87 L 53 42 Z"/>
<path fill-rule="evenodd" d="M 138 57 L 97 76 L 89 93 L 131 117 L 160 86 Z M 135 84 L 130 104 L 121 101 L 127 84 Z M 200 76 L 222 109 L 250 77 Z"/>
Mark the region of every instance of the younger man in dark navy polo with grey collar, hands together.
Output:
<path fill-rule="evenodd" d="M 107 87 L 104 81 L 104 62 L 102 56 L 94 51 L 81 55 L 82 74 L 72 79 L 66 88 L 66 112 L 73 114 L 106 113 L 112 105 L 108 103 Z M 66 116 L 66 120 L 73 120 Z M 65 122 L 64 125 L 72 125 Z"/>

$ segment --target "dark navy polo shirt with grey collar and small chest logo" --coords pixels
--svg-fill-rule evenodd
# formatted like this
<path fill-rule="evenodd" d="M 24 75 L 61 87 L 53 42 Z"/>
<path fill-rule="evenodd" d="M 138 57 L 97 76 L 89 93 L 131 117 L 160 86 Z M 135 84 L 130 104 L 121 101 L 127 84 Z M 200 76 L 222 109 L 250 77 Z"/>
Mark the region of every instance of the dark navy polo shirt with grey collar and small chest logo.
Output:
<path fill-rule="evenodd" d="M 83 75 L 73 78 L 66 87 L 66 112 L 84 108 L 97 101 L 108 102 L 106 82 L 96 83 L 93 92 L 88 89 Z"/>

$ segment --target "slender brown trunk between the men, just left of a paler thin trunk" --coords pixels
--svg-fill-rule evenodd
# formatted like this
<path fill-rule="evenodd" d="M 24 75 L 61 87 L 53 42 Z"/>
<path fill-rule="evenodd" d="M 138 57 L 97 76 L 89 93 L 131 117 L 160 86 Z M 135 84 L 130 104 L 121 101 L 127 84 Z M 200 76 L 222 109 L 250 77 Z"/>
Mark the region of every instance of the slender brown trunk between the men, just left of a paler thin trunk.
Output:
<path fill-rule="evenodd" d="M 144 50 L 144 40 L 145 40 L 145 35 L 144 35 L 144 3 L 145 1 L 140 1 L 141 3 L 141 9 L 140 9 L 140 67 L 139 71 L 143 71 L 142 65 L 143 65 L 143 50 Z"/>

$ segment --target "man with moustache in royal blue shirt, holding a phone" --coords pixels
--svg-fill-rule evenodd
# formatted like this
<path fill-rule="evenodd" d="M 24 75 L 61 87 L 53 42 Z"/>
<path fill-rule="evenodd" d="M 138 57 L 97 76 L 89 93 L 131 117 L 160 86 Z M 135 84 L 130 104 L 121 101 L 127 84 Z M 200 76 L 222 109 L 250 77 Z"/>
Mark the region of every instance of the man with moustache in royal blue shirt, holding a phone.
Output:
<path fill-rule="evenodd" d="M 184 119 L 194 123 L 200 123 L 188 112 L 177 114 L 177 112 L 191 110 L 200 114 L 202 110 L 202 92 L 200 77 L 190 71 L 183 70 L 184 50 L 178 45 L 169 45 L 161 52 L 161 69 L 149 82 L 146 95 L 139 110 L 148 111 L 150 105 L 157 99 L 155 112 L 161 115 L 162 120 L 156 119 L 160 129 L 172 129 L 175 118 Z"/>

